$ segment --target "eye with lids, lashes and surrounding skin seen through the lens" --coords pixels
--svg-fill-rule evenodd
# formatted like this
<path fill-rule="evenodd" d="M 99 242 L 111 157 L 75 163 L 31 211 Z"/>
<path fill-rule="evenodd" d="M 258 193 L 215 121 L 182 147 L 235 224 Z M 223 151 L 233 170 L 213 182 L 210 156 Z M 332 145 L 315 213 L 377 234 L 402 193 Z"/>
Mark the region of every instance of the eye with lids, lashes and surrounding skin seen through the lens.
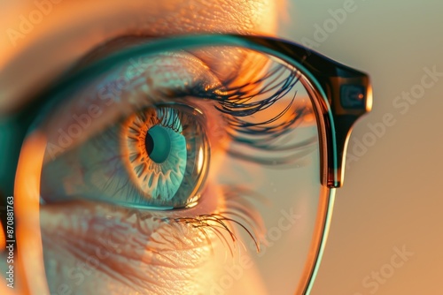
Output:
<path fill-rule="evenodd" d="M 220 253 L 269 239 L 261 200 L 290 194 L 288 169 L 318 173 L 297 175 L 315 163 L 317 135 L 296 68 L 235 46 L 153 44 L 60 82 L 31 127 L 45 142 L 51 292 L 214 291 Z"/>

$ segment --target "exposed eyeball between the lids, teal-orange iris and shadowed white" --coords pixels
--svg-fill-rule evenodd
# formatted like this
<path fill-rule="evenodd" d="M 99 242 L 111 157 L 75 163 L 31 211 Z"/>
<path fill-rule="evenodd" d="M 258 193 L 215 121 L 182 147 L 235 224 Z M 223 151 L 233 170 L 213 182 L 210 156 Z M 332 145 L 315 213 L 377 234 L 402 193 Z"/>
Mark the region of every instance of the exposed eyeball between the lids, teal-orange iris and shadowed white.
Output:
<path fill-rule="evenodd" d="M 189 207 L 207 170 L 204 124 L 201 112 L 184 104 L 138 110 L 44 165 L 43 199 Z"/>

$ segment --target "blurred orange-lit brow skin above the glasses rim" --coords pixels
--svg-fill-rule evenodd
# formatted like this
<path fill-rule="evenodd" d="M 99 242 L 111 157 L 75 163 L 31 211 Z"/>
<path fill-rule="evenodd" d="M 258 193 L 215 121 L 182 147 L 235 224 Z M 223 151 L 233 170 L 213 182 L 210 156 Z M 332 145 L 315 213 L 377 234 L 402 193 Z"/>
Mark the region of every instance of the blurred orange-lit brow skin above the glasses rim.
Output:
<path fill-rule="evenodd" d="M 33 32 L 23 40 L 17 40 L 17 47 L 13 47 L 11 42 L 4 44 L 3 57 L 7 60 L 0 59 L 0 114 L 27 103 L 29 93 L 43 91 L 52 79 L 97 44 L 125 34 L 159 36 L 205 31 L 253 31 L 253 4 L 261 0 L 198 2 L 201 7 L 197 8 L 192 1 L 185 4 L 180 0 L 171 1 L 180 5 L 168 10 L 157 1 L 145 0 L 135 1 L 131 6 L 123 0 L 54 4 L 52 12 L 44 17 L 41 24 L 35 24 Z M 240 5 L 245 6 L 243 10 L 238 7 Z M 31 5 L 29 9 L 32 11 L 32 8 Z M 149 17 L 146 17 L 145 11 L 150 11 Z M 63 26 L 60 26 L 62 22 Z"/>

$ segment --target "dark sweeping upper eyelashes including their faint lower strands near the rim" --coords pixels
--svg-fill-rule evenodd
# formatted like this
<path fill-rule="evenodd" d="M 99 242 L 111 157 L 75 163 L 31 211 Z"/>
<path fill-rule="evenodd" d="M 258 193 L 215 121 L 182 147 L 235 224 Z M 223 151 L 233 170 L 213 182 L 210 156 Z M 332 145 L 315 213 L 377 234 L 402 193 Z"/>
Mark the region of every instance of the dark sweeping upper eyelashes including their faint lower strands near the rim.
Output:
<path fill-rule="evenodd" d="M 317 142 L 316 136 L 285 146 L 276 145 L 274 142 L 301 124 L 306 115 L 312 114 L 312 110 L 307 107 L 307 104 L 294 105 L 298 92 L 293 88 L 299 83 L 300 76 L 301 73 L 297 69 L 277 64 L 266 75 L 240 86 L 233 86 L 235 78 L 230 78 L 226 79 L 221 87 L 207 89 L 204 85 L 196 85 L 187 89 L 185 93 L 176 93 L 175 97 L 193 96 L 217 102 L 218 105 L 214 108 L 225 115 L 223 117 L 228 127 L 226 133 L 233 142 L 267 153 L 272 151 L 292 152 L 291 155 L 264 157 L 262 155 L 245 155 L 230 146 L 227 150 L 229 155 L 248 162 L 281 167 L 282 165 L 299 163 L 301 158 L 314 150 Z M 267 110 L 285 95 L 288 95 L 292 89 L 294 90 L 293 96 L 287 100 L 284 110 L 281 110 L 276 116 L 258 123 L 247 122 L 244 119 L 244 117 Z M 257 100 L 256 98 L 261 95 L 266 96 Z M 286 115 L 289 110 L 291 110 L 291 114 L 288 118 L 284 119 L 282 123 L 273 124 Z"/>

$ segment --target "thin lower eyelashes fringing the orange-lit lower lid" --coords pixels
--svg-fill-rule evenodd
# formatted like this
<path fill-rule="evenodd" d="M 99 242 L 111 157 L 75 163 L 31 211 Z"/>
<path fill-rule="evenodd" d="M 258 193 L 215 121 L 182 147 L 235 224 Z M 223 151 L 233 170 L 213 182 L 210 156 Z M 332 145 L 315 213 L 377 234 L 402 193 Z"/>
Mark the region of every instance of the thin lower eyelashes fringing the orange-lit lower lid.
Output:
<path fill-rule="evenodd" d="M 266 202 L 266 199 L 260 193 L 253 190 L 235 186 L 223 185 L 221 186 L 221 195 L 224 200 L 222 208 L 218 208 L 215 212 L 210 214 L 198 216 L 183 216 L 183 217 L 164 217 L 161 211 L 143 211 L 135 208 L 125 208 L 125 216 L 122 220 L 127 218 L 132 219 L 136 215 L 136 226 L 140 231 L 143 228 L 142 223 L 146 220 L 154 220 L 159 223 L 167 223 L 170 226 L 166 227 L 168 235 L 174 237 L 175 243 L 180 243 L 183 239 L 183 244 L 186 244 L 187 234 L 183 233 L 182 226 L 175 226 L 179 224 L 191 226 L 198 229 L 206 238 L 206 245 L 212 247 L 214 237 L 221 241 L 222 245 L 228 247 L 232 257 L 234 257 L 237 246 L 246 248 L 246 245 L 254 246 L 257 252 L 260 252 L 260 244 L 265 239 L 265 226 L 263 220 L 254 206 L 253 202 Z M 118 205 L 108 204 L 108 208 L 120 212 L 122 208 Z M 186 211 L 183 211 L 183 215 Z M 238 230 L 245 231 L 246 235 L 251 238 L 251 243 L 245 243 L 238 237 Z M 171 245 L 174 247 L 174 245 Z"/>

